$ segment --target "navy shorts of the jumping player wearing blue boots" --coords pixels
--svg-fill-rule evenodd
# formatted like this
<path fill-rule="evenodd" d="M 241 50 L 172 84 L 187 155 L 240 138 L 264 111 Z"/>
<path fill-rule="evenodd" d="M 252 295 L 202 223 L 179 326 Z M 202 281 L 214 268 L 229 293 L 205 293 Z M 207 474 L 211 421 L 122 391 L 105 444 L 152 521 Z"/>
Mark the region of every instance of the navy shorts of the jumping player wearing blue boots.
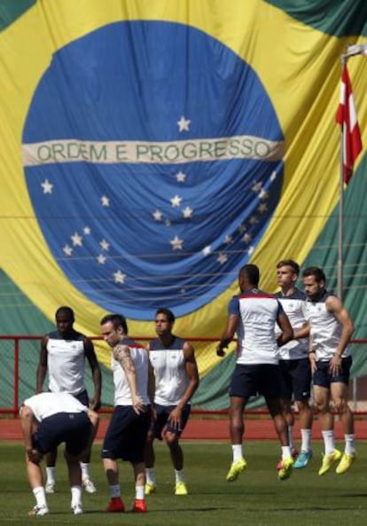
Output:
<path fill-rule="evenodd" d="M 311 396 L 311 365 L 308 358 L 280 360 L 282 398 L 286 400 L 308 400 Z"/>

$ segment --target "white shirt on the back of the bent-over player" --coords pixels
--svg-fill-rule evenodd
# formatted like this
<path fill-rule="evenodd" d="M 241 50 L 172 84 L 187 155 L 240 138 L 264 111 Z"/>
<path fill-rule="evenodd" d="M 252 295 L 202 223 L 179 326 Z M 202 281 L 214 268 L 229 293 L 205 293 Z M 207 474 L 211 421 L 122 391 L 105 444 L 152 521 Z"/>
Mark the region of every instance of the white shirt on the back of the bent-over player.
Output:
<path fill-rule="evenodd" d="M 88 412 L 88 407 L 69 393 L 40 393 L 27 398 L 24 405 L 32 409 L 39 422 L 59 412 Z"/>

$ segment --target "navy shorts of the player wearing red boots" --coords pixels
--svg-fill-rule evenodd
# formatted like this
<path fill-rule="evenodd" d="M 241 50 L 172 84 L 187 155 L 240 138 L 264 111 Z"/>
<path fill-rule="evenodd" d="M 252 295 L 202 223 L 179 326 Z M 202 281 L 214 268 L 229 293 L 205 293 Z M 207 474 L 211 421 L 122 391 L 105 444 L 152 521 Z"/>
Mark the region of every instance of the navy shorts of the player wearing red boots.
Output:
<path fill-rule="evenodd" d="M 131 405 L 116 405 L 105 434 L 102 459 L 144 461 L 144 446 L 151 425 L 151 408 L 137 414 Z"/>

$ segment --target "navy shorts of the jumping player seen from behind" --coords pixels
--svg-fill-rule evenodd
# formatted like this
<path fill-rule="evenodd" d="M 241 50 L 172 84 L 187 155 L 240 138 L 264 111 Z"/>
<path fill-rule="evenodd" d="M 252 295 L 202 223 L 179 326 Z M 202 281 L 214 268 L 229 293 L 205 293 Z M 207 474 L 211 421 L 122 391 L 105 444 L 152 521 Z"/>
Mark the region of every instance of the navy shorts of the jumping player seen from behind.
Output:
<path fill-rule="evenodd" d="M 230 396 L 249 398 L 262 395 L 273 400 L 280 398 L 280 393 L 279 365 L 236 365 L 230 381 Z"/>

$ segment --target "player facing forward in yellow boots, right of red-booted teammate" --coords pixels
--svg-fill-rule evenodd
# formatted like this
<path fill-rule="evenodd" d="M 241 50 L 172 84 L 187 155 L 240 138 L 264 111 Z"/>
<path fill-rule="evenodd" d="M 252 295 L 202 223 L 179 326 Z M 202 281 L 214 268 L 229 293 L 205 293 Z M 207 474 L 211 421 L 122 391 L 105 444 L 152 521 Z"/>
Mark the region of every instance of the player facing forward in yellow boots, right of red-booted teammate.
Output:
<path fill-rule="evenodd" d="M 149 343 L 149 358 L 155 375 L 152 427 L 145 446 L 145 495 L 156 491 L 154 438 L 164 439 L 175 468 L 175 495 L 187 495 L 180 436 L 189 420 L 190 400 L 199 386 L 198 365 L 190 342 L 172 333 L 175 315 L 169 309 L 155 313 L 158 338 Z"/>

